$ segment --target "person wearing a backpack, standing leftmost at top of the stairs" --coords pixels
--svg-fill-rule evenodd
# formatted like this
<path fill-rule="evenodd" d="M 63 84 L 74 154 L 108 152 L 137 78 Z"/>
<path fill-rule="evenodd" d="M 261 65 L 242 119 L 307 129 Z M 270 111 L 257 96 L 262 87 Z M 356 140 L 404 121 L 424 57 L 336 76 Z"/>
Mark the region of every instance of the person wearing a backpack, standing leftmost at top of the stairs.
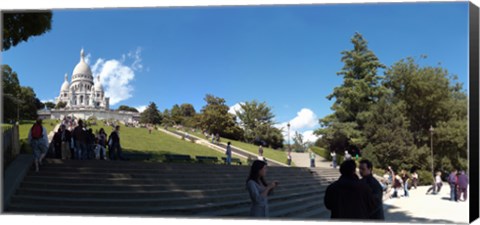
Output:
<path fill-rule="evenodd" d="M 35 172 L 38 172 L 42 160 L 45 158 L 48 150 L 47 129 L 42 126 L 42 119 L 37 119 L 28 133 L 28 142 L 32 147 L 35 160 Z"/>

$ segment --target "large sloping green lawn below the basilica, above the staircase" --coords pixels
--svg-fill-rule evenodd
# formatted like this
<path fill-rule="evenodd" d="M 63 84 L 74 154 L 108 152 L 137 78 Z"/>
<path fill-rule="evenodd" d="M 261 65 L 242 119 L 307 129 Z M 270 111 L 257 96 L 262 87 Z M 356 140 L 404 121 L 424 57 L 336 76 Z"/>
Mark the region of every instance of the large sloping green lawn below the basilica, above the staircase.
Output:
<path fill-rule="evenodd" d="M 103 124 L 100 122 L 99 124 Z M 113 131 L 112 127 L 103 125 L 90 126 L 95 132 L 104 128 L 107 135 Z M 184 154 L 195 156 L 214 156 L 224 157 L 225 155 L 212 150 L 208 147 L 184 141 L 176 137 L 165 134 L 161 131 L 152 130 L 149 134 L 145 128 L 133 128 L 121 126 L 120 142 L 125 152 L 130 153 L 150 153 L 154 161 L 163 161 L 164 154 Z"/>

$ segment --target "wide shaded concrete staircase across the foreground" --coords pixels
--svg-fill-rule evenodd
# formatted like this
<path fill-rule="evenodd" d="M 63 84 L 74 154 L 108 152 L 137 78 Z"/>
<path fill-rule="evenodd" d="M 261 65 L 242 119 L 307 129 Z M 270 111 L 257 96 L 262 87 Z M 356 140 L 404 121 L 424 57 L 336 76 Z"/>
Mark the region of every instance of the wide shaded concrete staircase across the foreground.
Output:
<path fill-rule="evenodd" d="M 27 174 L 7 212 L 180 217 L 248 217 L 247 166 L 49 159 Z M 328 218 L 323 205 L 337 170 L 268 168 L 279 181 L 270 217 Z"/>

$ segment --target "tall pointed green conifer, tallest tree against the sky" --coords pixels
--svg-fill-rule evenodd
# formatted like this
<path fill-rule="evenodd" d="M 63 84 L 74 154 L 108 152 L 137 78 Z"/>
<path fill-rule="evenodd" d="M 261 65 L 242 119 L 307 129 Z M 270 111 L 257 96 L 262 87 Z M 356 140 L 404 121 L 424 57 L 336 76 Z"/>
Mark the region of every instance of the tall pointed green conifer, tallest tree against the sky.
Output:
<path fill-rule="evenodd" d="M 334 113 L 321 119 L 321 128 L 315 132 L 323 136 L 331 151 L 337 152 L 366 145 L 362 132 L 365 114 L 387 91 L 380 84 L 382 77 L 377 75 L 385 66 L 361 34 L 355 33 L 351 41 L 353 49 L 342 51 L 344 66 L 337 73 L 343 77 L 343 84 L 327 96 L 329 100 L 335 98 L 331 107 Z"/>

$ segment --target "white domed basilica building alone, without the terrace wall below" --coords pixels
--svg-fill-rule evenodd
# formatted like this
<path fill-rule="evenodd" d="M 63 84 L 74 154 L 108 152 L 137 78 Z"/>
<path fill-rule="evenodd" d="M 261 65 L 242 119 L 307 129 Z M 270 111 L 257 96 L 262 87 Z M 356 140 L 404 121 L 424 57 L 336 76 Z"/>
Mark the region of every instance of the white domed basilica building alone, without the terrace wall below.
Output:
<path fill-rule="evenodd" d="M 92 71 L 85 62 L 83 49 L 80 51 L 80 62 L 73 69 L 71 83 L 68 83 L 68 75 L 65 74 L 65 81 L 55 103 L 59 102 L 67 103 L 66 108 L 109 108 L 109 98 L 105 97 L 100 76 L 97 76 L 97 82 L 94 82 Z"/>

